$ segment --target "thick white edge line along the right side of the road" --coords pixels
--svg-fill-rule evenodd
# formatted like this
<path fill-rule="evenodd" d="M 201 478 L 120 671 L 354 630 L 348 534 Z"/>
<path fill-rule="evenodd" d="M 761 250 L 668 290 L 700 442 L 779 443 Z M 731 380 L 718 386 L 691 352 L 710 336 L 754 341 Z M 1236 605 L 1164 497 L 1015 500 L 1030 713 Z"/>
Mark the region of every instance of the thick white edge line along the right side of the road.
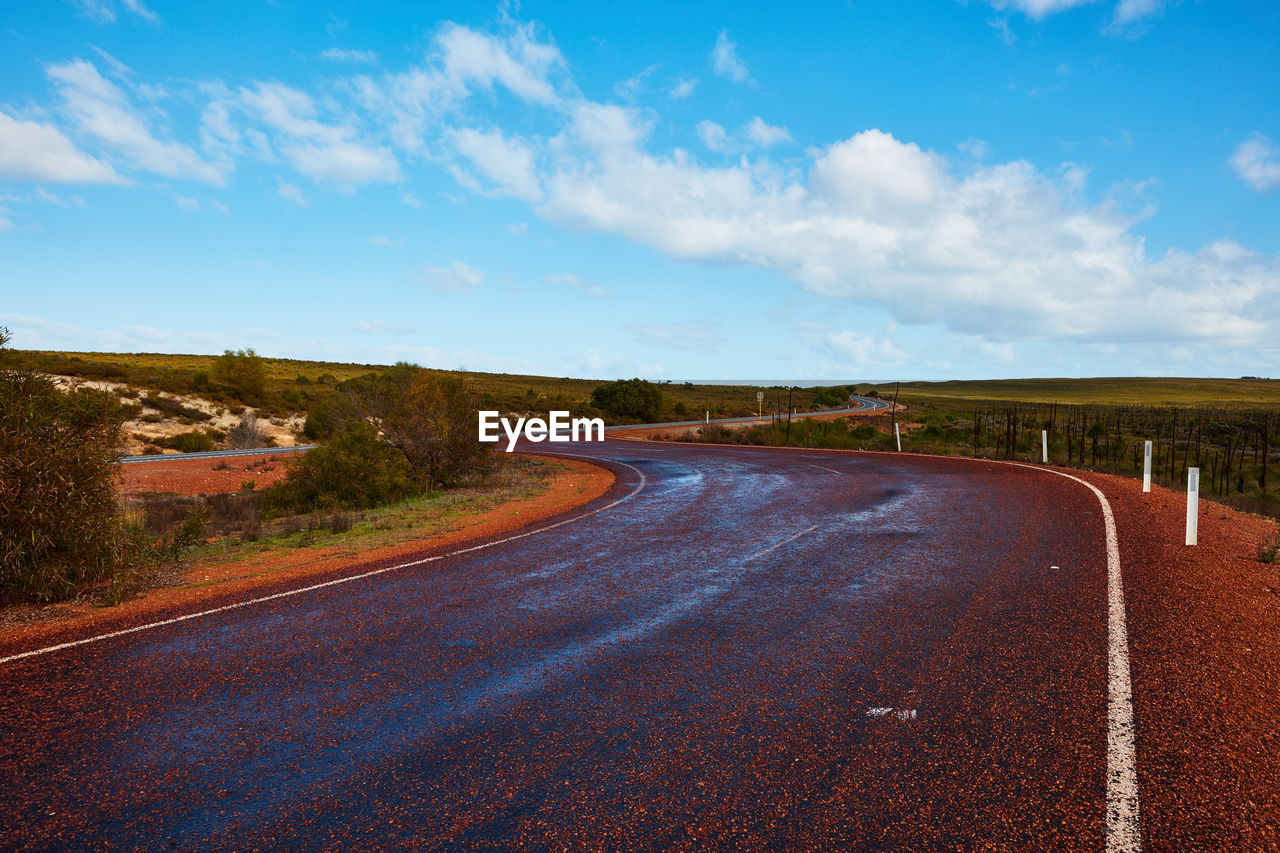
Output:
<path fill-rule="evenodd" d="M 1011 465 L 1075 480 L 1093 492 L 1102 505 L 1107 533 L 1107 853 L 1137 853 L 1142 849 L 1138 751 L 1133 722 L 1133 686 L 1129 680 L 1129 629 L 1125 625 L 1115 515 L 1102 489 L 1093 483 L 1037 465 Z"/>

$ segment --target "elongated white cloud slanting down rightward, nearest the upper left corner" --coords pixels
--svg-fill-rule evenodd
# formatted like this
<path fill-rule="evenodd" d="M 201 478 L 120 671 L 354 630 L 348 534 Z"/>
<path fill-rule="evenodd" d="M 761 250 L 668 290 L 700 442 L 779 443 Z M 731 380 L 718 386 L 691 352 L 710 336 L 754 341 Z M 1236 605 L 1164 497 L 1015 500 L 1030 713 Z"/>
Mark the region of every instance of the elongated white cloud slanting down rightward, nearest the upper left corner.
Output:
<path fill-rule="evenodd" d="M 132 165 L 166 178 L 195 178 L 221 186 L 223 175 L 195 151 L 157 140 L 129 97 L 92 63 L 76 59 L 45 68 L 58 87 L 64 111 L 79 131 L 127 158 Z"/>

